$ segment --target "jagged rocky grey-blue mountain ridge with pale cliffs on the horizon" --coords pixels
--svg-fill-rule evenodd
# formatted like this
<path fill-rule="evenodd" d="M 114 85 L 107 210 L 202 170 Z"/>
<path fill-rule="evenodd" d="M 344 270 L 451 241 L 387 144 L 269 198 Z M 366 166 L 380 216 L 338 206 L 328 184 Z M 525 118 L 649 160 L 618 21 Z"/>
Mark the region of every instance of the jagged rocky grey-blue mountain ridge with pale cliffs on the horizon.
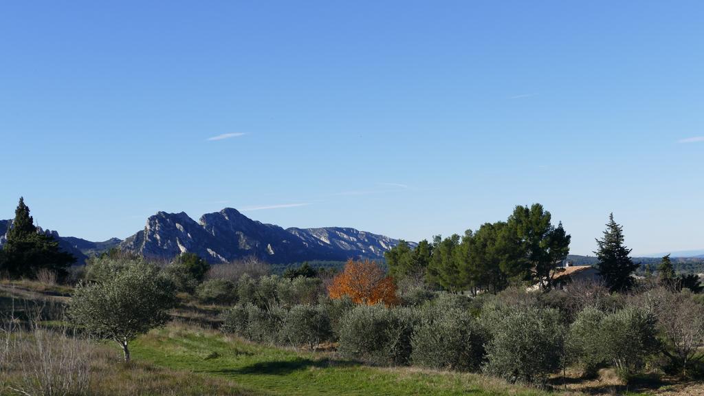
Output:
<path fill-rule="evenodd" d="M 236 209 L 204 214 L 196 223 L 187 214 L 149 217 L 144 230 L 120 248 L 160 259 L 191 252 L 211 262 L 256 256 L 272 264 L 306 260 L 382 259 L 398 240 L 354 228 L 284 228 L 253 221 Z"/>

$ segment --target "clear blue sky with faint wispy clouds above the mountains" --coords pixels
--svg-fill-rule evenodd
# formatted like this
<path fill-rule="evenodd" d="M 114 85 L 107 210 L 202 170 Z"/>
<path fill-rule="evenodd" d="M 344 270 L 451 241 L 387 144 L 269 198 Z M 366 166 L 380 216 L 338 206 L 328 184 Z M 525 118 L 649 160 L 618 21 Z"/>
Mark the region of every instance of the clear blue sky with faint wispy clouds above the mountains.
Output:
<path fill-rule="evenodd" d="M 149 3 L 149 4 L 147 4 Z M 7 1 L 0 218 L 225 206 L 420 240 L 540 202 L 704 249 L 701 1 Z M 219 137 L 219 138 L 218 138 Z"/>

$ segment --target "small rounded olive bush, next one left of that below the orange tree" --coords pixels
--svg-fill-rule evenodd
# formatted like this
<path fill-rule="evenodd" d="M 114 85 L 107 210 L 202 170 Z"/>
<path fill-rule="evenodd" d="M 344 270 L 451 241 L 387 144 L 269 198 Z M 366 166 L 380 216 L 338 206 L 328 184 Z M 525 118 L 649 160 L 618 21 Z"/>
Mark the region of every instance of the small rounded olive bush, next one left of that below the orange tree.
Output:
<path fill-rule="evenodd" d="M 325 307 L 300 304 L 291 308 L 286 316 L 284 337 L 293 345 L 306 345 L 314 350 L 332 337 L 330 317 Z"/>

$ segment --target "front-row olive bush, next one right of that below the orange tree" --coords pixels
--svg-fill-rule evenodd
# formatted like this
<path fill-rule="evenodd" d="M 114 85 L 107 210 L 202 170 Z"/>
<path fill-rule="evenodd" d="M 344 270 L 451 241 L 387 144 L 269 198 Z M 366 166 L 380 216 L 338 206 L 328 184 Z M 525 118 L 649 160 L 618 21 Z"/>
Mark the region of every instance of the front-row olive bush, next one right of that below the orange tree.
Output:
<path fill-rule="evenodd" d="M 411 339 L 413 364 L 431 369 L 477 370 L 486 334 L 469 311 L 429 307 Z"/>

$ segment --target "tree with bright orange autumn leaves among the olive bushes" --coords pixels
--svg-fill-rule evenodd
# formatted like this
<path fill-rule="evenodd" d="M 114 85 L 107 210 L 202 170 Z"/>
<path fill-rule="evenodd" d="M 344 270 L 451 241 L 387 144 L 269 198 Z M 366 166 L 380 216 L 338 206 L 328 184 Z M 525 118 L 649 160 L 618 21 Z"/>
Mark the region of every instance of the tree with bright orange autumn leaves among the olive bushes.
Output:
<path fill-rule="evenodd" d="M 349 296 L 356 304 L 396 303 L 396 285 L 375 261 L 350 259 L 345 269 L 327 287 L 330 298 Z"/>

